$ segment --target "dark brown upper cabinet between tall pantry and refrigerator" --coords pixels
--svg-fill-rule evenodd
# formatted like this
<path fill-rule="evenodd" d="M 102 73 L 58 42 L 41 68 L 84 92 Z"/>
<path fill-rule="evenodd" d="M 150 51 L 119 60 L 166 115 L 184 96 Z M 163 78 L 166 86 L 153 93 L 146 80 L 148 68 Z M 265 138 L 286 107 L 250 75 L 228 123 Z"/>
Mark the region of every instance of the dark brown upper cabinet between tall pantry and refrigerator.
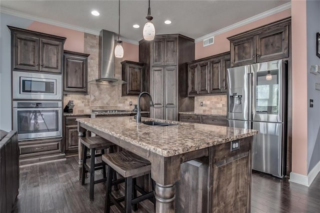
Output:
<path fill-rule="evenodd" d="M 188 96 L 226 92 L 226 69 L 230 67 L 230 54 L 190 61 L 188 64 Z"/>

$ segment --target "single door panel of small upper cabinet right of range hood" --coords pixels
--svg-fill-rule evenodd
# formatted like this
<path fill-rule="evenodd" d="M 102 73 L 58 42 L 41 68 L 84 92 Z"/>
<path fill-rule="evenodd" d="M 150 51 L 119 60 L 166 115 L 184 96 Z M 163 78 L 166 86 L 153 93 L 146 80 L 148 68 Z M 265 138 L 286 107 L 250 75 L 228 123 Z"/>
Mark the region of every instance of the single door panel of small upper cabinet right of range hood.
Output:
<path fill-rule="evenodd" d="M 143 66 L 127 64 L 127 94 L 139 94 L 142 92 Z"/>

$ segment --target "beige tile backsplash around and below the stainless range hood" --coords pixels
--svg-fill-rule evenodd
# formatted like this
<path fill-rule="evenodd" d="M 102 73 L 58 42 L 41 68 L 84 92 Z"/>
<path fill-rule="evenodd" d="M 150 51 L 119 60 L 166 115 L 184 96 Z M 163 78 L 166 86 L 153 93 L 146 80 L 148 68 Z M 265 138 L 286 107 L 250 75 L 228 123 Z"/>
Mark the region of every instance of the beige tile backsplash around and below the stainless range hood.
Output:
<path fill-rule="evenodd" d="M 84 33 L 84 53 L 88 57 L 88 81 L 98 77 L 99 36 Z M 114 75 L 121 79 L 122 58 L 114 57 Z M 89 113 L 92 109 L 133 109 L 136 96 L 121 96 L 121 84 L 102 85 L 88 82 L 88 94 L 68 94 L 63 97 L 64 105 L 73 100 L 73 113 Z M 132 105 L 129 102 L 132 101 Z M 64 106 L 63 106 L 64 107 Z"/>

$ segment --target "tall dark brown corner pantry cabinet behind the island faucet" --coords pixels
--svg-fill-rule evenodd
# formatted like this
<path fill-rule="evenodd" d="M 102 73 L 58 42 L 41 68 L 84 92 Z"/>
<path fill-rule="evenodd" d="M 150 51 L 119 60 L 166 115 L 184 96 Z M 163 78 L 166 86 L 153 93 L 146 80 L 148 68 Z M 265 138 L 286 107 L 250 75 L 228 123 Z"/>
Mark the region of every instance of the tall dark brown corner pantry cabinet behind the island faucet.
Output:
<path fill-rule="evenodd" d="M 194 60 L 194 40 L 180 34 L 156 35 L 139 42 L 139 61 L 145 63 L 143 90 L 154 106 L 150 117 L 177 120 L 179 111 L 193 111 L 194 99 L 187 97 L 186 62 Z M 148 100 L 144 108 L 149 107 Z"/>

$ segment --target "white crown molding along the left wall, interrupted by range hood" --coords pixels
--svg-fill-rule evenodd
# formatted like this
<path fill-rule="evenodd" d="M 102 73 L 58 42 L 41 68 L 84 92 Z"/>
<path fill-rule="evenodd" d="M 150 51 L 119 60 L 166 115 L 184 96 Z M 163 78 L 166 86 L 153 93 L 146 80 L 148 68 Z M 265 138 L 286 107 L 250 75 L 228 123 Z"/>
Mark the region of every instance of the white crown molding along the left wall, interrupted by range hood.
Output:
<path fill-rule="evenodd" d="M 20 17 L 20 18 L 26 18 L 26 19 L 39 21 L 39 22 L 42 22 L 42 23 L 47 23 L 47 24 L 60 26 L 60 27 L 64 27 L 64 28 L 67 28 L 67 29 L 73 29 L 73 30 L 76 30 L 76 31 L 85 32 L 85 33 L 94 34 L 94 35 L 99 35 L 99 32 L 100 32 L 100 31 L 93 30 L 93 29 L 88 29 L 88 28 L 84 28 L 84 27 L 80 27 L 80 26 L 76 26 L 76 25 L 72 25 L 72 24 L 68 24 L 68 23 L 64 23 L 64 22 L 60 22 L 60 21 L 56 21 L 56 20 L 51 20 L 51 19 L 47 19 L 47 18 L 42 18 L 42 17 L 39 17 L 39 16 L 30 15 L 30 14 L 23 13 L 23 12 L 18 12 L 16 10 L 8 9 L 8 8 L 5 8 L 5 7 L 0 7 L 0 12 L 8 14 L 8 15 L 17 16 L 17 17 Z M 126 37 L 121 37 L 121 40 L 125 41 L 125 42 L 128 42 L 128 43 L 136 44 L 136 45 L 139 44 L 138 41 L 132 40 L 132 39 L 129 39 L 129 38 L 126 38 Z"/>

